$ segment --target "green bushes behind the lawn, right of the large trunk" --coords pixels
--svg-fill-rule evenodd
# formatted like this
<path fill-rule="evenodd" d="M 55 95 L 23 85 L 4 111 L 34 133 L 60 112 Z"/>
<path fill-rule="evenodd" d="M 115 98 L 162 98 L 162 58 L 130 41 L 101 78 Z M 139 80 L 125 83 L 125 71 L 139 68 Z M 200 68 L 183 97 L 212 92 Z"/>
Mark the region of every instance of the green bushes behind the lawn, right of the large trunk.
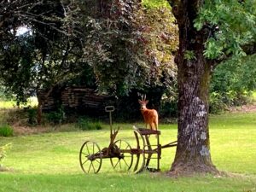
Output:
<path fill-rule="evenodd" d="M 215 69 L 210 90 L 212 113 L 248 102 L 248 96 L 256 89 L 255 61 L 256 55 L 251 55 L 241 61 L 226 61 Z"/>

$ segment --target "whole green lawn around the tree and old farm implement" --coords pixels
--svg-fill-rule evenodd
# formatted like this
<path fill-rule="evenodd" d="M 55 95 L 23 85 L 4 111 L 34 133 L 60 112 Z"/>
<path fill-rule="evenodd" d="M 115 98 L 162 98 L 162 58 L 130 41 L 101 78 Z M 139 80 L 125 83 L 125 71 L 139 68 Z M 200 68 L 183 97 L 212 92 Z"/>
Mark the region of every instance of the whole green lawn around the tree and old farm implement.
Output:
<path fill-rule="evenodd" d="M 115 125 L 117 126 L 117 125 Z M 119 138 L 135 147 L 132 125 L 121 125 Z M 160 125 L 160 143 L 177 137 L 177 125 Z M 13 143 L 0 172 L 0 191 L 256 191 L 256 113 L 212 116 L 212 161 L 230 177 L 166 177 L 175 148 L 163 149 L 160 173 L 115 172 L 103 160 L 98 174 L 85 175 L 79 167 L 79 148 L 93 140 L 101 148 L 109 142 L 108 125 L 102 131 L 70 131 L 19 137 L 0 137 L 0 146 Z"/>

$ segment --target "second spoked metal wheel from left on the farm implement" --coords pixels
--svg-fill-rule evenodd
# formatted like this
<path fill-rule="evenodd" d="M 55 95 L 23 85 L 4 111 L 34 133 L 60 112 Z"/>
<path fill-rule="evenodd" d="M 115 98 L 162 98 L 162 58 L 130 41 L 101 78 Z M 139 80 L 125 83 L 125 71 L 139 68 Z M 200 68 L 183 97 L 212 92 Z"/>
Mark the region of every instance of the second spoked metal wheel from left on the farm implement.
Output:
<path fill-rule="evenodd" d="M 119 171 L 128 171 L 131 169 L 133 154 L 131 154 L 131 145 L 123 140 L 117 140 L 114 143 L 117 157 L 110 158 L 113 169 Z"/>

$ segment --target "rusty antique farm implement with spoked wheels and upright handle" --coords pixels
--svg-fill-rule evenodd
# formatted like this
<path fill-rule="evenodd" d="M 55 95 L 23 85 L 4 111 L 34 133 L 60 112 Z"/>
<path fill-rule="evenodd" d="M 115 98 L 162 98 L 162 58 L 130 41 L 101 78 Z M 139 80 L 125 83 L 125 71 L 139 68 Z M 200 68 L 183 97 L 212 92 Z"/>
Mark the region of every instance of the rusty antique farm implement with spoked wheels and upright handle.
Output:
<path fill-rule="evenodd" d="M 177 142 L 160 145 L 160 131 L 134 127 L 136 148 L 131 148 L 130 143 L 124 140 L 115 140 L 118 129 L 112 125 L 113 106 L 108 106 L 105 111 L 109 113 L 110 120 L 110 143 L 106 148 L 100 148 L 95 142 L 86 141 L 79 152 L 79 163 L 85 173 L 97 173 L 101 170 L 102 160 L 110 159 L 110 163 L 116 170 L 131 170 L 137 173 L 143 169 L 151 172 L 160 171 L 161 149 L 177 146 Z M 155 144 L 151 144 L 149 137 L 155 136 Z M 151 139 L 151 138 L 150 138 Z M 156 160 L 156 167 L 149 168 L 150 160 Z"/>

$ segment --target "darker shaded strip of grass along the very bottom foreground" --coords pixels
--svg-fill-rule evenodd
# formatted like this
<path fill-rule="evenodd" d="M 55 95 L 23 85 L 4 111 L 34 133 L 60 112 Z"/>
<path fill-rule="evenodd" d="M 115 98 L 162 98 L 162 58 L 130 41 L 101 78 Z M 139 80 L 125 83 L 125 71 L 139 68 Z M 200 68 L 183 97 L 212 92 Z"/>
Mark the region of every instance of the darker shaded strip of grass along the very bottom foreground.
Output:
<path fill-rule="evenodd" d="M 11 182 L 10 182 L 11 181 Z M 253 181 L 247 177 L 179 177 L 165 175 L 102 173 L 98 175 L 3 174 L 0 191 L 112 191 L 112 192 L 253 192 Z"/>

